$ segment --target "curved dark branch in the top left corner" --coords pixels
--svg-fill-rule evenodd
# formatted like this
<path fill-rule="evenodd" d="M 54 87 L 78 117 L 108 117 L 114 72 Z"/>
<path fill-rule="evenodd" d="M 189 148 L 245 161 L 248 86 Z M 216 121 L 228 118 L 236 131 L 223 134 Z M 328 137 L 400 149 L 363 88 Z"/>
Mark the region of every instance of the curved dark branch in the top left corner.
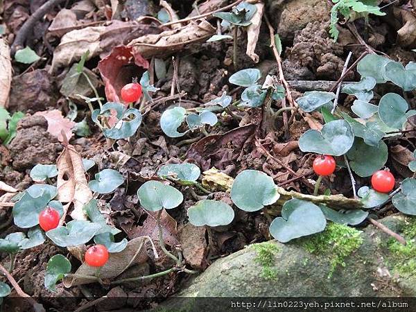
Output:
<path fill-rule="evenodd" d="M 33 28 L 35 27 L 35 23 L 37 21 L 42 19 L 42 17 L 44 17 L 44 15 L 47 12 L 49 12 L 49 10 L 65 1 L 66 0 L 49 0 L 46 3 L 44 3 L 43 6 L 38 8 L 36 12 L 34 12 L 33 15 L 31 15 L 31 17 L 29 17 L 24 22 L 23 26 L 21 26 L 21 28 L 17 32 L 15 40 L 13 41 L 13 44 L 10 47 L 10 55 L 14 56 L 17 50 L 24 48 L 24 45 L 26 44 L 26 38 L 33 31 Z"/>

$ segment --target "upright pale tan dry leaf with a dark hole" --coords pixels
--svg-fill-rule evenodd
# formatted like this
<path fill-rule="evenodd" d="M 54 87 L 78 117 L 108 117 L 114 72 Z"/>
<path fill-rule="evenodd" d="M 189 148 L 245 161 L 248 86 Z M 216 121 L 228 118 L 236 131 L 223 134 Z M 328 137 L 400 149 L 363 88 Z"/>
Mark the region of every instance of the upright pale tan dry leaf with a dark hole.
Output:
<path fill-rule="evenodd" d="M 83 206 L 92 199 L 92 191 L 88 187 L 83 159 L 69 144 L 64 144 L 64 150 L 59 155 L 58 166 L 58 200 L 73 202 L 71 217 L 76 220 L 87 220 Z M 61 220 L 61 224 L 63 218 Z"/>

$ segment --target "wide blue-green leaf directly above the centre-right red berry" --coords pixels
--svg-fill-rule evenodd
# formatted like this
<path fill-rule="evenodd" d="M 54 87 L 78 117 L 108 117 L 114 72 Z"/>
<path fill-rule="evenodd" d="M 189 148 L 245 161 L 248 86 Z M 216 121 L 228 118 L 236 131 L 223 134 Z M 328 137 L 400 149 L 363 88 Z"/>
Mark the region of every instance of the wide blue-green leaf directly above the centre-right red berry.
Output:
<path fill-rule="evenodd" d="M 308 130 L 299 139 L 302 152 L 340 156 L 347 153 L 354 143 L 352 128 L 345 120 L 326 123 L 321 132 Z"/>

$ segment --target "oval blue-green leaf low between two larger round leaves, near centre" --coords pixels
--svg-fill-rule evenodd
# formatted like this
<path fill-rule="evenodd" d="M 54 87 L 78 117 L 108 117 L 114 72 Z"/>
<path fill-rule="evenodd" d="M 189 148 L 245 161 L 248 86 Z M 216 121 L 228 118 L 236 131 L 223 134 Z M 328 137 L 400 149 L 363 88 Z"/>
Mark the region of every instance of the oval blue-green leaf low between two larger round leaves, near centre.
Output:
<path fill-rule="evenodd" d="M 189 222 L 197 227 L 228 225 L 234 219 L 234 210 L 225 202 L 200 200 L 188 209 Z"/>

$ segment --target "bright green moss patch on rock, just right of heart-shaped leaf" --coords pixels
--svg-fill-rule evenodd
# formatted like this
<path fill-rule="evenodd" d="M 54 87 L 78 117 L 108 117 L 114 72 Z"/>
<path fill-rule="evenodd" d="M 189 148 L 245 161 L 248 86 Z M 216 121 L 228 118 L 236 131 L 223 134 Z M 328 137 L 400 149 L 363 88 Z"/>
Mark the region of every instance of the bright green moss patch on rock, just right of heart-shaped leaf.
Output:
<path fill-rule="evenodd" d="M 360 248 L 363 243 L 361 231 L 330 223 L 324 232 L 301 240 L 301 245 L 312 254 L 322 254 L 329 258 L 328 278 L 331 278 L 338 266 L 345 266 L 345 259 Z"/>

